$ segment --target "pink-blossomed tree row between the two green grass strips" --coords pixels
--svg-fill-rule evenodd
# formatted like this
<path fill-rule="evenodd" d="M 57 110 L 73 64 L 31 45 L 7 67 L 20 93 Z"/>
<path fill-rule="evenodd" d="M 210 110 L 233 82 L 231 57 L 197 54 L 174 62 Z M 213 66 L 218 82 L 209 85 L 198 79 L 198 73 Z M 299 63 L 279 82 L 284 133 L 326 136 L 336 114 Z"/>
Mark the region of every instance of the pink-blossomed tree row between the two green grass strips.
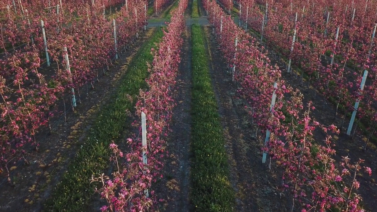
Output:
<path fill-rule="evenodd" d="M 187 3 L 187 0 L 179 1 L 178 7 L 172 11 L 171 22 L 158 49 L 152 49 L 153 64 L 149 69 L 150 77 L 146 80 L 149 89 L 140 91 L 136 103 L 136 115 L 142 117 L 142 125 L 135 126 L 139 127 L 142 138 L 137 135 L 128 138 L 128 149 L 131 151 L 127 153 L 118 149 L 116 144 L 110 144 L 113 151 L 110 160 L 116 164 L 113 176 L 101 175 L 92 179 L 101 183 L 98 192 L 108 203 L 101 208 L 102 211 L 149 211 L 158 207 L 158 199 L 149 189 L 161 176 L 164 166 L 161 158 L 168 155 L 164 146 L 170 133 L 172 110 L 176 105 L 172 90 L 181 61 L 181 36 L 185 29 L 183 14 Z M 139 122 L 135 120 L 134 123 Z"/>

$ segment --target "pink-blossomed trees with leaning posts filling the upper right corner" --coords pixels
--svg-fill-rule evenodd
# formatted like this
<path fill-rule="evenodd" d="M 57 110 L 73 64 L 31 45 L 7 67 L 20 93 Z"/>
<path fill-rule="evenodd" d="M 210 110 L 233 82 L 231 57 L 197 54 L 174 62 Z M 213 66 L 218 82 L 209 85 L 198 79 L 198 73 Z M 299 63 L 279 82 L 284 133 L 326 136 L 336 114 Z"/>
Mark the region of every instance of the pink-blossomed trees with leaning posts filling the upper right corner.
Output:
<path fill-rule="evenodd" d="M 294 66 L 302 70 L 302 81 L 308 75 L 308 89 L 312 85 L 335 102 L 334 117 L 339 106 L 346 113 L 357 110 L 368 125 L 368 140 L 377 123 L 376 6 L 362 0 L 239 2 L 243 27 L 287 59 L 287 72 Z"/>

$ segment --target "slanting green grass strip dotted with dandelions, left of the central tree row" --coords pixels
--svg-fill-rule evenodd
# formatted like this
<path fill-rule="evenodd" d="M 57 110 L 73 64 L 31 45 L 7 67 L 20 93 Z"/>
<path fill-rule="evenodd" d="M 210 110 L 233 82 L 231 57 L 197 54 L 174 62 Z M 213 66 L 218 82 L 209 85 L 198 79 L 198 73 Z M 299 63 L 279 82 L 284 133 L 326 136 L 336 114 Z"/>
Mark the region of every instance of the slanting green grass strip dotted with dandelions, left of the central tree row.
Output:
<path fill-rule="evenodd" d="M 153 60 L 150 49 L 156 48 L 155 43 L 162 36 L 162 30 L 159 29 L 133 58 L 111 102 L 101 109 L 80 151 L 70 163 L 61 182 L 55 186 L 52 198 L 46 203 L 47 211 L 72 212 L 86 211 L 89 208 L 95 186 L 90 184 L 90 178 L 92 174 L 103 173 L 109 166 L 109 144 L 121 137 L 126 127 L 126 111 L 133 111 L 139 89 L 147 86 L 147 62 L 152 63 Z"/>

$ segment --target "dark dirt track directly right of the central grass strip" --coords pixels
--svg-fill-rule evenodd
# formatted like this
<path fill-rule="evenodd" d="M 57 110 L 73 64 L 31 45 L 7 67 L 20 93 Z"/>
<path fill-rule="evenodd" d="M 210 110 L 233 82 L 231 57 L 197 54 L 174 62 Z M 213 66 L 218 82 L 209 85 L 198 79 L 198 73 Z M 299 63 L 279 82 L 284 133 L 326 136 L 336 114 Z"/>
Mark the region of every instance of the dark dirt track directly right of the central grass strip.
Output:
<path fill-rule="evenodd" d="M 231 81 L 231 72 L 226 68 L 225 61 L 221 60 L 215 38 L 208 27 L 205 27 L 205 31 L 209 43 L 210 71 L 227 141 L 231 182 L 237 193 L 236 211 L 285 212 L 285 207 L 282 207 L 284 202 L 274 189 L 278 180 L 276 172 L 268 170 L 261 163 L 262 140 L 255 136 L 242 100 L 234 98 L 236 84 Z"/>

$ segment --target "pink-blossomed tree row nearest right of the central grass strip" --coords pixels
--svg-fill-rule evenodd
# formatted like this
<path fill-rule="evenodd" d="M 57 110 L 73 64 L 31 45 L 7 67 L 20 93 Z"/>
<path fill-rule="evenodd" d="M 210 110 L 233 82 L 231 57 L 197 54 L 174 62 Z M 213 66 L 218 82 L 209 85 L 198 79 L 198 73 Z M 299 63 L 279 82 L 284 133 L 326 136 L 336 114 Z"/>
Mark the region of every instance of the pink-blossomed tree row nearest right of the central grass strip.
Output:
<path fill-rule="evenodd" d="M 282 80 L 282 72 L 270 65 L 256 40 L 234 24 L 215 1 L 204 2 L 204 7 L 239 84 L 238 94 L 246 100 L 251 122 L 266 133 L 262 162 L 268 154 L 282 167 L 280 188 L 292 192 L 292 210 L 362 212 L 356 176 L 361 169 L 371 175 L 371 169 L 362 167 L 363 160 L 351 163 L 348 157 L 336 163 L 332 142 L 332 136 L 339 133 L 336 126 L 313 120 L 311 102 L 303 104 L 303 95 Z M 323 141 L 314 136 L 315 131 L 324 135 Z"/>

